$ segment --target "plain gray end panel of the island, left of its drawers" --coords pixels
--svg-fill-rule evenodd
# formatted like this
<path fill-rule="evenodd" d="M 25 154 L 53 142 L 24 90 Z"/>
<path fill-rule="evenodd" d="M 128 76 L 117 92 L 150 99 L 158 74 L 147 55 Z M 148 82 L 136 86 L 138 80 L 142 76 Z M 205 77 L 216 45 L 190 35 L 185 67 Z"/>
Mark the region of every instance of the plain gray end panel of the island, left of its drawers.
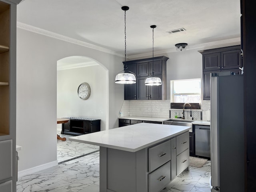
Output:
<path fill-rule="evenodd" d="M 148 192 L 147 156 L 100 146 L 100 192 Z"/>

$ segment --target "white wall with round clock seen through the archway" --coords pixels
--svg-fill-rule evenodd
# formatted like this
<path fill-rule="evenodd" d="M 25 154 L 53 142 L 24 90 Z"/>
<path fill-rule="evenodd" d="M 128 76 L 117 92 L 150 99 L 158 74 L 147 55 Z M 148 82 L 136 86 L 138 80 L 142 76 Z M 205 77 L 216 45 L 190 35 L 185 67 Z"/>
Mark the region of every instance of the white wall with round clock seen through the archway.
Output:
<path fill-rule="evenodd" d="M 82 82 L 90 85 L 88 100 L 81 100 L 77 95 Z M 100 65 L 58 70 L 57 117 L 100 119 L 101 130 L 106 130 L 106 87 L 106 70 Z"/>

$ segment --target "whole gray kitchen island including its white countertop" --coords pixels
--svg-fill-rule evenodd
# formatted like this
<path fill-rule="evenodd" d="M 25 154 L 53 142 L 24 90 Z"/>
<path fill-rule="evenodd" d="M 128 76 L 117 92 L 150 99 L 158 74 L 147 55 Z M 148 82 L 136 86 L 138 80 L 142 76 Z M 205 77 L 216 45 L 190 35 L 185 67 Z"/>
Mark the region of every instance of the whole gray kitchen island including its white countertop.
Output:
<path fill-rule="evenodd" d="M 190 128 L 140 123 L 69 140 L 100 146 L 100 192 L 158 192 L 189 169 Z"/>

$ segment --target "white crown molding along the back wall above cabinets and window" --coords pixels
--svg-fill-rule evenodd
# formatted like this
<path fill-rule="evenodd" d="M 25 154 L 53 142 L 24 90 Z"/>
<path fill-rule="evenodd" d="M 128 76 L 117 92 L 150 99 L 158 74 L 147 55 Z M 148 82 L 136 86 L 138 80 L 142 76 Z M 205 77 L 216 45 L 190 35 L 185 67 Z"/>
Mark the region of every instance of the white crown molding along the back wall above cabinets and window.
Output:
<path fill-rule="evenodd" d="M 241 43 L 241 38 L 232 38 L 227 40 L 214 41 L 214 42 L 208 42 L 208 43 L 203 43 L 198 45 L 187 46 L 186 50 L 220 48 L 223 46 L 239 45 L 240 43 Z M 154 51 L 154 54 L 158 55 L 158 54 L 166 54 L 171 52 L 177 52 L 176 48 Z M 127 58 L 132 59 L 132 58 L 140 58 L 145 56 L 152 56 L 152 52 L 130 55 Z"/>

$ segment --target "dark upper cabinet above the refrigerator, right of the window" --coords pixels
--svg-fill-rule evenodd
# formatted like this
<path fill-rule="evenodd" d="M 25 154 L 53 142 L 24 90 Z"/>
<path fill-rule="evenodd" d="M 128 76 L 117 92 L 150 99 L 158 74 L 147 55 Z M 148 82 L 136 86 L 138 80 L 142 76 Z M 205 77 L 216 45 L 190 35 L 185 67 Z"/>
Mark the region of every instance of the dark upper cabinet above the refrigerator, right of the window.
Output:
<path fill-rule="evenodd" d="M 203 100 L 210 100 L 210 73 L 230 71 L 240 74 L 242 57 L 240 45 L 202 50 L 203 66 Z"/>

